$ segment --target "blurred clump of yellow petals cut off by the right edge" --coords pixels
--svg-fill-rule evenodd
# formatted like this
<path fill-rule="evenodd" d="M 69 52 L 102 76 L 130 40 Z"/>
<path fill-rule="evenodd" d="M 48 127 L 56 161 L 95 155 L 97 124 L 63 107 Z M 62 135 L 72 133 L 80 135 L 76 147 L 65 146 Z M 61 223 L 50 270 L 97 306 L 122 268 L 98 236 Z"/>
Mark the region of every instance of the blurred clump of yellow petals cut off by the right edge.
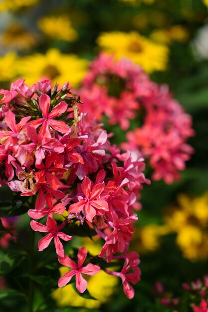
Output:
<path fill-rule="evenodd" d="M 181 194 L 178 202 L 179 207 L 165 216 L 166 224 L 177 233 L 177 244 L 186 258 L 208 258 L 208 192 L 195 198 Z"/>

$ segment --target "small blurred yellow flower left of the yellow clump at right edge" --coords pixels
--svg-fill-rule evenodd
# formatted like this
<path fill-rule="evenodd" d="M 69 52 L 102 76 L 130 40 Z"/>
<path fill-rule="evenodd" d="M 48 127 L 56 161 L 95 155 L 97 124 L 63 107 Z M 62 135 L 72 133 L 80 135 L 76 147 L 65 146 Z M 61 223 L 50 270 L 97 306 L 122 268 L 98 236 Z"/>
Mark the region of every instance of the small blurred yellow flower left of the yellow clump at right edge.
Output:
<path fill-rule="evenodd" d="M 169 233 L 169 227 L 149 224 L 138 231 L 134 245 L 140 253 L 155 251 L 160 246 L 160 237 Z"/>

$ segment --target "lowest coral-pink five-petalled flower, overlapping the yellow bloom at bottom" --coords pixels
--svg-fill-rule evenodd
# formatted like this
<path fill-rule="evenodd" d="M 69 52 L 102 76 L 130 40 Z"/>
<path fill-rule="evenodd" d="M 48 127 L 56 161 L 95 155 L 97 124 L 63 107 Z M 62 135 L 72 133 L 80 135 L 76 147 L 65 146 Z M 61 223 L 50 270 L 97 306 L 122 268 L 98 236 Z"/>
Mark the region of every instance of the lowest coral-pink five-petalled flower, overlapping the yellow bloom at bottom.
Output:
<path fill-rule="evenodd" d="M 100 267 L 91 263 L 83 267 L 83 263 L 86 257 L 87 257 L 87 250 L 85 247 L 80 248 L 78 251 L 78 255 L 77 255 L 78 264 L 76 264 L 73 260 L 71 260 L 66 255 L 64 255 L 63 258 L 58 257 L 58 261 L 60 262 L 60 264 L 72 269 L 70 272 L 67 272 L 58 280 L 59 287 L 63 287 L 67 283 L 69 283 L 71 278 L 75 275 L 76 276 L 76 288 L 78 289 L 80 293 L 84 293 L 84 291 L 87 288 L 87 281 L 82 277 L 82 274 L 95 275 L 98 272 L 100 272 Z"/>

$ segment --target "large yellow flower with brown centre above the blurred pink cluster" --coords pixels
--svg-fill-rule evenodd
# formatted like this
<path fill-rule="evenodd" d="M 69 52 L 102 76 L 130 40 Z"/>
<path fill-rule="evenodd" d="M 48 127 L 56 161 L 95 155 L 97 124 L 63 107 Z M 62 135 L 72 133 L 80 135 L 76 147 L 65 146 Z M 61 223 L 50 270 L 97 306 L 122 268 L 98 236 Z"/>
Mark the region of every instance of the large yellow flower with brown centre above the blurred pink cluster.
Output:
<path fill-rule="evenodd" d="M 148 73 L 166 69 L 168 47 L 155 43 L 138 32 L 106 32 L 98 37 L 97 42 L 101 49 L 114 54 L 116 58 L 128 57 Z"/>

